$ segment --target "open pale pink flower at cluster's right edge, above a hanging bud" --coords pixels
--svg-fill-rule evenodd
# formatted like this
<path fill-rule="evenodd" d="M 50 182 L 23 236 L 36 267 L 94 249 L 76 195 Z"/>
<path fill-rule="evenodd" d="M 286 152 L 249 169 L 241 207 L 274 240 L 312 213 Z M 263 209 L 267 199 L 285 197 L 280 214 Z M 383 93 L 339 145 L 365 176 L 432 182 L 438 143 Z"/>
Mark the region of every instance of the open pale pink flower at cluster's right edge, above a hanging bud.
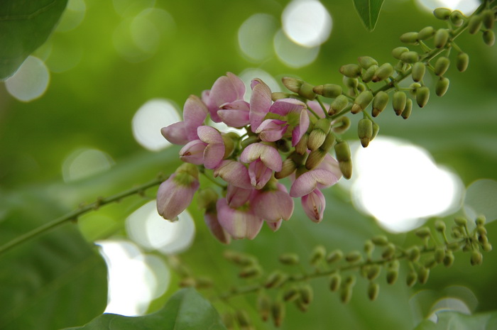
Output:
<path fill-rule="evenodd" d="M 314 170 L 305 172 L 297 177 L 290 187 L 291 197 L 302 197 L 310 194 L 316 188 L 324 188 L 334 185 L 342 177 L 342 172 L 337 160 L 331 155 L 324 156 L 321 164 Z"/>

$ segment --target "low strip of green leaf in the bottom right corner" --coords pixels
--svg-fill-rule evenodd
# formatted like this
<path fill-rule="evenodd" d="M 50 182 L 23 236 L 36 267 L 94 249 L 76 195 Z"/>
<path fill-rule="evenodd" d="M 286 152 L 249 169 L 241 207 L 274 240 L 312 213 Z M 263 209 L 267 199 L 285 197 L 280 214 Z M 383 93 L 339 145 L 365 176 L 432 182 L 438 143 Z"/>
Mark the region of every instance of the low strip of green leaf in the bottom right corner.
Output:
<path fill-rule="evenodd" d="M 496 329 L 497 312 L 473 315 L 459 312 L 437 312 L 437 323 L 422 321 L 415 330 L 485 330 Z"/>

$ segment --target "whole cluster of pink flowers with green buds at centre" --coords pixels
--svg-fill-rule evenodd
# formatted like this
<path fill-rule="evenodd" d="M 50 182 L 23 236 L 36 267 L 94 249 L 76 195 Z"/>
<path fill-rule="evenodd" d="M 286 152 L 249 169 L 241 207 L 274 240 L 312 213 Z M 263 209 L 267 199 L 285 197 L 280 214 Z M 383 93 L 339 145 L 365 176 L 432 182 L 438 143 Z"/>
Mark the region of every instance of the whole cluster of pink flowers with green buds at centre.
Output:
<path fill-rule="evenodd" d="M 228 72 L 202 98 L 188 97 L 183 121 L 161 129 L 168 141 L 183 145 L 180 159 L 185 163 L 160 185 L 159 214 L 177 219 L 200 187 L 199 172 L 212 170 L 226 185 L 219 184 L 220 193 L 200 189 L 199 204 L 207 226 L 223 243 L 255 238 L 263 222 L 278 230 L 293 214 L 293 197 L 300 197 L 312 221 L 322 221 L 321 189 L 342 177 L 341 165 L 328 153 L 335 137 L 320 104 L 281 97 L 261 79 L 253 79 L 251 89 L 247 102 L 244 82 Z M 207 117 L 246 133 L 220 132 L 208 125 Z M 289 192 L 278 181 L 283 177 L 291 180 Z"/>

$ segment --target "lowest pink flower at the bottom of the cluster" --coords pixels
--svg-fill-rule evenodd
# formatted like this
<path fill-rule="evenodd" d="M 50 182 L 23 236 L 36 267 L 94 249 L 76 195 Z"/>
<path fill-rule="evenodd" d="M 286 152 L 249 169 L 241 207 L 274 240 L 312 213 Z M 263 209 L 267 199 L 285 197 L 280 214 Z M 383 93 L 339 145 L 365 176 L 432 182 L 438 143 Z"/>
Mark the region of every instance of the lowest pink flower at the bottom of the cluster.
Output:
<path fill-rule="evenodd" d="M 263 219 L 253 214 L 253 209 L 241 210 L 229 207 L 226 199 L 217 200 L 217 219 L 219 224 L 234 239 L 253 239 L 261 231 Z"/>

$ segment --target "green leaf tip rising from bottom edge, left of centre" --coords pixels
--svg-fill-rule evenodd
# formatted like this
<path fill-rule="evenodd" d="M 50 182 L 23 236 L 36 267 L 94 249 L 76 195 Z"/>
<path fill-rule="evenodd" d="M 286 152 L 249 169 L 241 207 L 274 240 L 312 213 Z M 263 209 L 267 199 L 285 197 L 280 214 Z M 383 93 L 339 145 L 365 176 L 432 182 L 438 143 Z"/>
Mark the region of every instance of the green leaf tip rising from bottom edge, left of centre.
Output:
<path fill-rule="evenodd" d="M 226 330 L 216 309 L 192 288 L 170 297 L 158 312 L 143 317 L 102 314 L 85 326 L 67 330 Z"/>

